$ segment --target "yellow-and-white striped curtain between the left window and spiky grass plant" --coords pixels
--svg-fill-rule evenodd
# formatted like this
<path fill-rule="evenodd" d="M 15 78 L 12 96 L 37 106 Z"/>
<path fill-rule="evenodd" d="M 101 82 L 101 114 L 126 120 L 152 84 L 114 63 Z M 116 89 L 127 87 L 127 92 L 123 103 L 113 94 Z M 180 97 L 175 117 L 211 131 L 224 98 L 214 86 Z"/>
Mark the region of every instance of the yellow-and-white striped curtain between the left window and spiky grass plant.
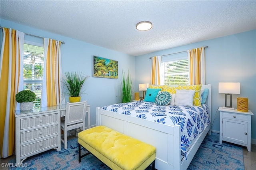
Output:
<path fill-rule="evenodd" d="M 44 74 L 41 107 L 65 105 L 60 41 L 44 38 Z"/>

